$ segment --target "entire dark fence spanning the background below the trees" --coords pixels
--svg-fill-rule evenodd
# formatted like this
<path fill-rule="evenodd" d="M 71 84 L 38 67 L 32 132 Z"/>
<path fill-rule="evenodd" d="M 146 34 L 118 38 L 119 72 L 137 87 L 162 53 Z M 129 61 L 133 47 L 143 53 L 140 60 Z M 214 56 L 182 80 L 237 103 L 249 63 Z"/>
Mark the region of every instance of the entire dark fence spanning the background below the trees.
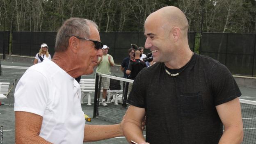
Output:
<path fill-rule="evenodd" d="M 56 32 L 0 32 L 0 53 L 34 57 L 41 43 L 47 43 L 53 56 Z M 100 32 L 103 44 L 110 47 L 109 54 L 116 64 L 128 57 L 131 43 L 144 46 L 144 32 Z M 198 37 L 199 36 L 199 37 Z M 5 37 L 5 39 L 4 39 Z M 11 37 L 11 39 L 9 39 Z M 256 76 L 255 33 L 201 33 L 188 32 L 190 49 L 225 64 L 236 75 Z M 11 46 L 11 53 L 9 53 Z M 145 54 L 149 50 L 145 50 Z"/>

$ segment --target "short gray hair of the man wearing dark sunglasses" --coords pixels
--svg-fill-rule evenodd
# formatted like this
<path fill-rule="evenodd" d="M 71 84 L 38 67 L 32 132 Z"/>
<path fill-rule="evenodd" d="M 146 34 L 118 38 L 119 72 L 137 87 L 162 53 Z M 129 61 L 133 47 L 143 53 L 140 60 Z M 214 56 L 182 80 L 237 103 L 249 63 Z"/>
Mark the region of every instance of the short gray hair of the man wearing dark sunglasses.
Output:
<path fill-rule="evenodd" d="M 69 18 L 59 28 L 55 42 L 55 52 L 65 51 L 69 46 L 69 36 L 88 38 L 90 33 L 90 25 L 98 29 L 98 25 L 94 21 L 85 18 Z"/>

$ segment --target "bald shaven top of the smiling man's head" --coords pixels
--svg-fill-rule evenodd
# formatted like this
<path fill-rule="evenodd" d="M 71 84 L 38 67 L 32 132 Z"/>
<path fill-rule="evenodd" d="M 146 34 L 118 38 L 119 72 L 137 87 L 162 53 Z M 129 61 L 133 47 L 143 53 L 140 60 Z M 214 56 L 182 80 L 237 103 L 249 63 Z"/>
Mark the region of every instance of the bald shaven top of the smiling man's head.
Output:
<path fill-rule="evenodd" d="M 181 32 L 187 35 L 187 18 L 178 7 L 168 6 L 158 9 L 148 16 L 145 23 L 152 20 L 160 21 L 161 27 L 165 30 L 171 30 L 172 27 L 179 27 Z"/>

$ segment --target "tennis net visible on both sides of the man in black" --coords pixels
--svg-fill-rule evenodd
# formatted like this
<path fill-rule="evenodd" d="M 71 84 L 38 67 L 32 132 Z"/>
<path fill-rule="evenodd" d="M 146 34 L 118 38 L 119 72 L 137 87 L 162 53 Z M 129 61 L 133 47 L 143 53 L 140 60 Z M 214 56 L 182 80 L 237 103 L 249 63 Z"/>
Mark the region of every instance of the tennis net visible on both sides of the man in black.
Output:
<path fill-rule="evenodd" d="M 114 82 L 113 82 L 114 80 Z M 114 84 L 114 83 L 117 84 Z M 96 75 L 98 83 L 95 89 L 96 101 L 94 103 L 94 117 L 105 119 L 114 123 L 120 123 L 125 114 L 128 104 L 126 104 L 130 89 L 133 85 L 133 80 L 118 78 L 111 75 Z M 110 83 L 109 87 L 117 86 L 117 89 L 108 89 L 106 103 L 107 107 L 102 105 L 103 87 L 106 83 Z M 127 91 L 125 95 L 123 91 Z M 240 99 L 242 110 L 242 121 L 244 128 L 244 139 L 242 144 L 256 144 L 256 101 L 248 101 Z"/>

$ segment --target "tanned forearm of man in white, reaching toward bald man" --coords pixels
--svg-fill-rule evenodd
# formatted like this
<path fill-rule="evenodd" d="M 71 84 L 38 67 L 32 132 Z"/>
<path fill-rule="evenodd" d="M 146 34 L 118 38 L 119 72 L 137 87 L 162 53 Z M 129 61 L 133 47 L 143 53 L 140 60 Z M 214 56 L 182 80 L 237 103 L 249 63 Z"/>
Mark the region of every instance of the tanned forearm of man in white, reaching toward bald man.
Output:
<path fill-rule="evenodd" d="M 94 142 L 120 136 L 123 136 L 120 124 L 85 125 L 84 142 Z"/>

